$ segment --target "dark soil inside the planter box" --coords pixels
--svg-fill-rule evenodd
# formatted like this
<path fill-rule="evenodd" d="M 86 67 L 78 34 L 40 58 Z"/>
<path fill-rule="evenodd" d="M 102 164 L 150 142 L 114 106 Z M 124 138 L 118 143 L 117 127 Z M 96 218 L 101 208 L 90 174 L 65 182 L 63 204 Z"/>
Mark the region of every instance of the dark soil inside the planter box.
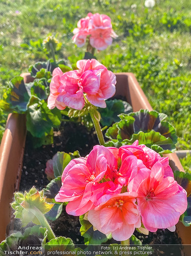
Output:
<path fill-rule="evenodd" d="M 20 190 L 29 190 L 33 185 L 41 190 L 49 183 L 44 170 L 47 160 L 51 159 L 57 151 L 79 150 L 81 156 L 86 156 L 96 144 L 98 144 L 98 140 L 93 130 L 88 131 L 82 124 L 71 122 L 64 122 L 59 131 L 55 130 L 53 145 L 33 149 L 31 137 L 27 136 Z M 75 244 L 83 244 L 83 237 L 80 236 L 79 217 L 68 215 L 65 208 L 63 208 L 61 216 L 51 225 L 57 236 L 70 237 Z M 150 232 L 148 236 L 135 231 L 134 235 L 143 244 L 181 244 L 176 232 L 170 232 L 167 229 Z"/>

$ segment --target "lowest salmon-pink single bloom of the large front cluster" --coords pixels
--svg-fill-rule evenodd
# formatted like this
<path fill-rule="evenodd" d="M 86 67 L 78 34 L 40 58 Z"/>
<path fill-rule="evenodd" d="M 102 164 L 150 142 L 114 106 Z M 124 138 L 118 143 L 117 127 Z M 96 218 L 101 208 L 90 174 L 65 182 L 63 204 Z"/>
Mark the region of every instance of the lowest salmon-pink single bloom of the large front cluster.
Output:
<path fill-rule="evenodd" d="M 103 234 L 110 234 L 117 241 L 127 240 L 135 227 L 141 226 L 136 193 L 123 193 L 110 198 L 88 212 L 89 222 Z"/>

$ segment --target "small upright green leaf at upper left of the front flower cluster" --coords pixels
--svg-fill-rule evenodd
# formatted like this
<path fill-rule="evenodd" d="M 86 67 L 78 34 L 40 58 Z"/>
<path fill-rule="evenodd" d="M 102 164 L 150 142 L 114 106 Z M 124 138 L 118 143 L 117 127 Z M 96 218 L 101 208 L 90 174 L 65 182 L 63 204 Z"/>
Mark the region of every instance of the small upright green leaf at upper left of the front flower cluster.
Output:
<path fill-rule="evenodd" d="M 65 152 L 57 152 L 52 158 L 53 160 L 53 172 L 55 177 L 61 176 L 64 168 L 71 160 L 71 156 Z"/>

